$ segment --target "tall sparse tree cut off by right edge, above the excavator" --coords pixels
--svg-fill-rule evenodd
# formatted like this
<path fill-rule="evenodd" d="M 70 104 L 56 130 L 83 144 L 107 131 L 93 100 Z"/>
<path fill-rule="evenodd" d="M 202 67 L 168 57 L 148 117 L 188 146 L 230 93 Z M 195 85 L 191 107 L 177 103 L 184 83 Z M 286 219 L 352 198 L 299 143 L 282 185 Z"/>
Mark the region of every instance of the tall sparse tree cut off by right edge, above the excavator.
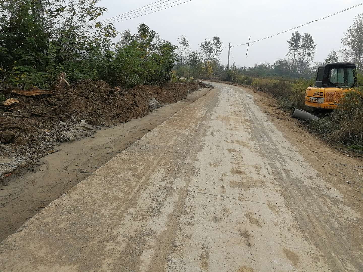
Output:
<path fill-rule="evenodd" d="M 360 69 L 363 54 L 363 14 L 353 19 L 353 25 L 344 33 L 342 44 L 345 47 L 341 50 L 344 61 L 354 62 Z"/>

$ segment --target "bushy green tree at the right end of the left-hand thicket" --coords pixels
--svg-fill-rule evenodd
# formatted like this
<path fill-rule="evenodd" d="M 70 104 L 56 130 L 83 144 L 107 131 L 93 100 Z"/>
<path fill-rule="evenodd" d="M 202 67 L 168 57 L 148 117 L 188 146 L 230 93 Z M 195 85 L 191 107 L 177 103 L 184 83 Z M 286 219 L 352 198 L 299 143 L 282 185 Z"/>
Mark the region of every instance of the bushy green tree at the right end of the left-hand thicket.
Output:
<path fill-rule="evenodd" d="M 141 24 L 138 33 L 127 35 L 127 43 L 92 58 L 90 67 L 97 67 L 96 78 L 112 85 L 131 87 L 136 84 L 160 85 L 171 79 L 178 61 L 177 46 L 162 40 L 154 30 Z"/>

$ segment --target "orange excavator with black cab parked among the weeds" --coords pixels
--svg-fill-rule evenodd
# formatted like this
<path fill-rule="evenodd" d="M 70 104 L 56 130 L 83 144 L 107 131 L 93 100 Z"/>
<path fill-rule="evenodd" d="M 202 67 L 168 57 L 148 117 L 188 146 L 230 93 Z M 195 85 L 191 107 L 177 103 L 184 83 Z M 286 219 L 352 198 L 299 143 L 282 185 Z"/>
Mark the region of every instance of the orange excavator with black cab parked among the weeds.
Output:
<path fill-rule="evenodd" d="M 315 87 L 308 87 L 305 105 L 312 108 L 334 109 L 344 94 L 357 85 L 354 63 L 326 63 L 318 68 Z"/>

